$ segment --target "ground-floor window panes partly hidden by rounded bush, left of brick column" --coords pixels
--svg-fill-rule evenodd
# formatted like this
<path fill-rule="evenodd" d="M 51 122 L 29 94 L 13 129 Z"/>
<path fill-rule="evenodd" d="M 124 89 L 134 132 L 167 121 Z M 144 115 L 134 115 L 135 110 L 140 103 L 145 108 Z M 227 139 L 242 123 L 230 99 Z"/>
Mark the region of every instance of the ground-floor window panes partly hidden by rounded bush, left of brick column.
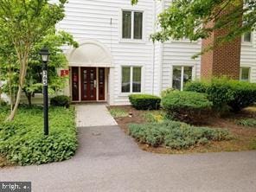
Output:
<path fill-rule="evenodd" d="M 193 67 L 175 66 L 172 70 L 172 87 L 183 90 L 184 85 L 192 80 Z"/>

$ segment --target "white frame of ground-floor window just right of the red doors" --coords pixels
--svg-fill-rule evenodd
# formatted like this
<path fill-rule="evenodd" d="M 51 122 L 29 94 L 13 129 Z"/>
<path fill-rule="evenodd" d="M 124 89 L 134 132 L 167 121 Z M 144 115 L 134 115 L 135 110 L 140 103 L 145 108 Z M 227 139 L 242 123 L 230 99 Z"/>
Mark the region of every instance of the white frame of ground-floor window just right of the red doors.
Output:
<path fill-rule="evenodd" d="M 130 70 L 130 92 L 122 92 L 122 81 L 123 81 L 123 73 L 122 73 L 122 70 L 123 70 L 123 67 L 130 67 L 131 68 L 131 70 Z M 141 78 L 141 80 L 140 80 L 140 83 L 141 83 L 141 86 L 140 86 L 140 92 L 133 92 L 133 87 L 132 87 L 132 80 L 133 80 L 133 67 L 141 67 L 141 74 L 140 74 L 140 78 Z M 144 67 L 143 66 L 141 66 L 141 65 L 133 65 L 133 66 L 131 66 L 131 65 L 124 65 L 124 66 L 121 66 L 120 67 L 120 76 L 121 76 L 121 79 L 120 79 L 120 93 L 122 94 L 122 95 L 125 95 L 125 96 L 127 96 L 127 95 L 129 95 L 129 94 L 131 94 L 131 93 L 143 93 L 144 91 Z"/>

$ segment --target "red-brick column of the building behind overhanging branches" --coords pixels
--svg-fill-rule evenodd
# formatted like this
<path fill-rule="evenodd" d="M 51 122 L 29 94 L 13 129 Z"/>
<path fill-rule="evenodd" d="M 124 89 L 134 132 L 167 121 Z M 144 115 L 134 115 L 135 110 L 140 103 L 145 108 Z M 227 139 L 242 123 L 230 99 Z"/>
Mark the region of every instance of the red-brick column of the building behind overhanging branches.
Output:
<path fill-rule="evenodd" d="M 225 16 L 226 13 L 223 12 L 222 16 Z M 241 23 L 238 24 L 240 25 Z M 208 23 L 206 27 L 211 26 L 214 26 L 214 22 Z M 215 30 L 208 39 L 202 40 L 202 49 L 208 48 L 211 44 L 216 44 L 217 38 L 227 35 L 228 32 L 228 28 Z M 238 80 L 240 77 L 240 48 L 241 37 L 238 37 L 233 42 L 224 43 L 212 51 L 203 54 L 202 78 L 226 75 Z"/>

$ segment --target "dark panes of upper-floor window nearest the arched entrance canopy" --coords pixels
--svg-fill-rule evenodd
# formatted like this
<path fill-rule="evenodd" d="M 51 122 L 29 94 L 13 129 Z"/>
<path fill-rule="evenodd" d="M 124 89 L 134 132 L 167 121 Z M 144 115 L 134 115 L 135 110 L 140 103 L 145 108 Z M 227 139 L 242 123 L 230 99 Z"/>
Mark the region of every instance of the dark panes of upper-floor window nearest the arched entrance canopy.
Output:
<path fill-rule="evenodd" d="M 122 38 L 141 40 L 143 36 L 143 12 L 123 11 Z"/>

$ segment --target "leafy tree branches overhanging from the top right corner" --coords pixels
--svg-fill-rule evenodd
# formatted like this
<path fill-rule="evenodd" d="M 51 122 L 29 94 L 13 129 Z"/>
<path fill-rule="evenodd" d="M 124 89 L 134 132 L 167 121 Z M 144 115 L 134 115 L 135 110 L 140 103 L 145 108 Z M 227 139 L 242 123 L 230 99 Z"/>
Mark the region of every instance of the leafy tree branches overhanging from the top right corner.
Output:
<path fill-rule="evenodd" d="M 131 0 L 132 4 L 138 0 Z M 232 11 L 227 11 L 232 8 Z M 225 16 L 223 16 L 225 12 Z M 242 26 L 240 22 L 242 20 Z M 153 41 L 189 38 L 190 41 L 208 38 L 214 30 L 228 28 L 228 33 L 218 38 L 220 45 L 256 28 L 255 0 L 174 0 L 158 16 L 161 30 L 151 35 Z M 214 22 L 214 25 L 208 25 Z"/>

